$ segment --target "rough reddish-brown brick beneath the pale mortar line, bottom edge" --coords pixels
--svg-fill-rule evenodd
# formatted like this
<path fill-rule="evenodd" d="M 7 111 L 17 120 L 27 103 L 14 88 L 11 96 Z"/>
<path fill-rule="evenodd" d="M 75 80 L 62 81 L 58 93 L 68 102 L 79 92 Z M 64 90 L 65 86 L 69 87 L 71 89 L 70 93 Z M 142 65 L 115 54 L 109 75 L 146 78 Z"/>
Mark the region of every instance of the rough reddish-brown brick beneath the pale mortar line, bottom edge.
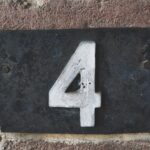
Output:
<path fill-rule="evenodd" d="M 150 142 L 102 142 L 99 144 L 81 143 L 70 145 L 65 143 L 49 143 L 45 141 L 6 141 L 5 150 L 149 150 Z"/>

